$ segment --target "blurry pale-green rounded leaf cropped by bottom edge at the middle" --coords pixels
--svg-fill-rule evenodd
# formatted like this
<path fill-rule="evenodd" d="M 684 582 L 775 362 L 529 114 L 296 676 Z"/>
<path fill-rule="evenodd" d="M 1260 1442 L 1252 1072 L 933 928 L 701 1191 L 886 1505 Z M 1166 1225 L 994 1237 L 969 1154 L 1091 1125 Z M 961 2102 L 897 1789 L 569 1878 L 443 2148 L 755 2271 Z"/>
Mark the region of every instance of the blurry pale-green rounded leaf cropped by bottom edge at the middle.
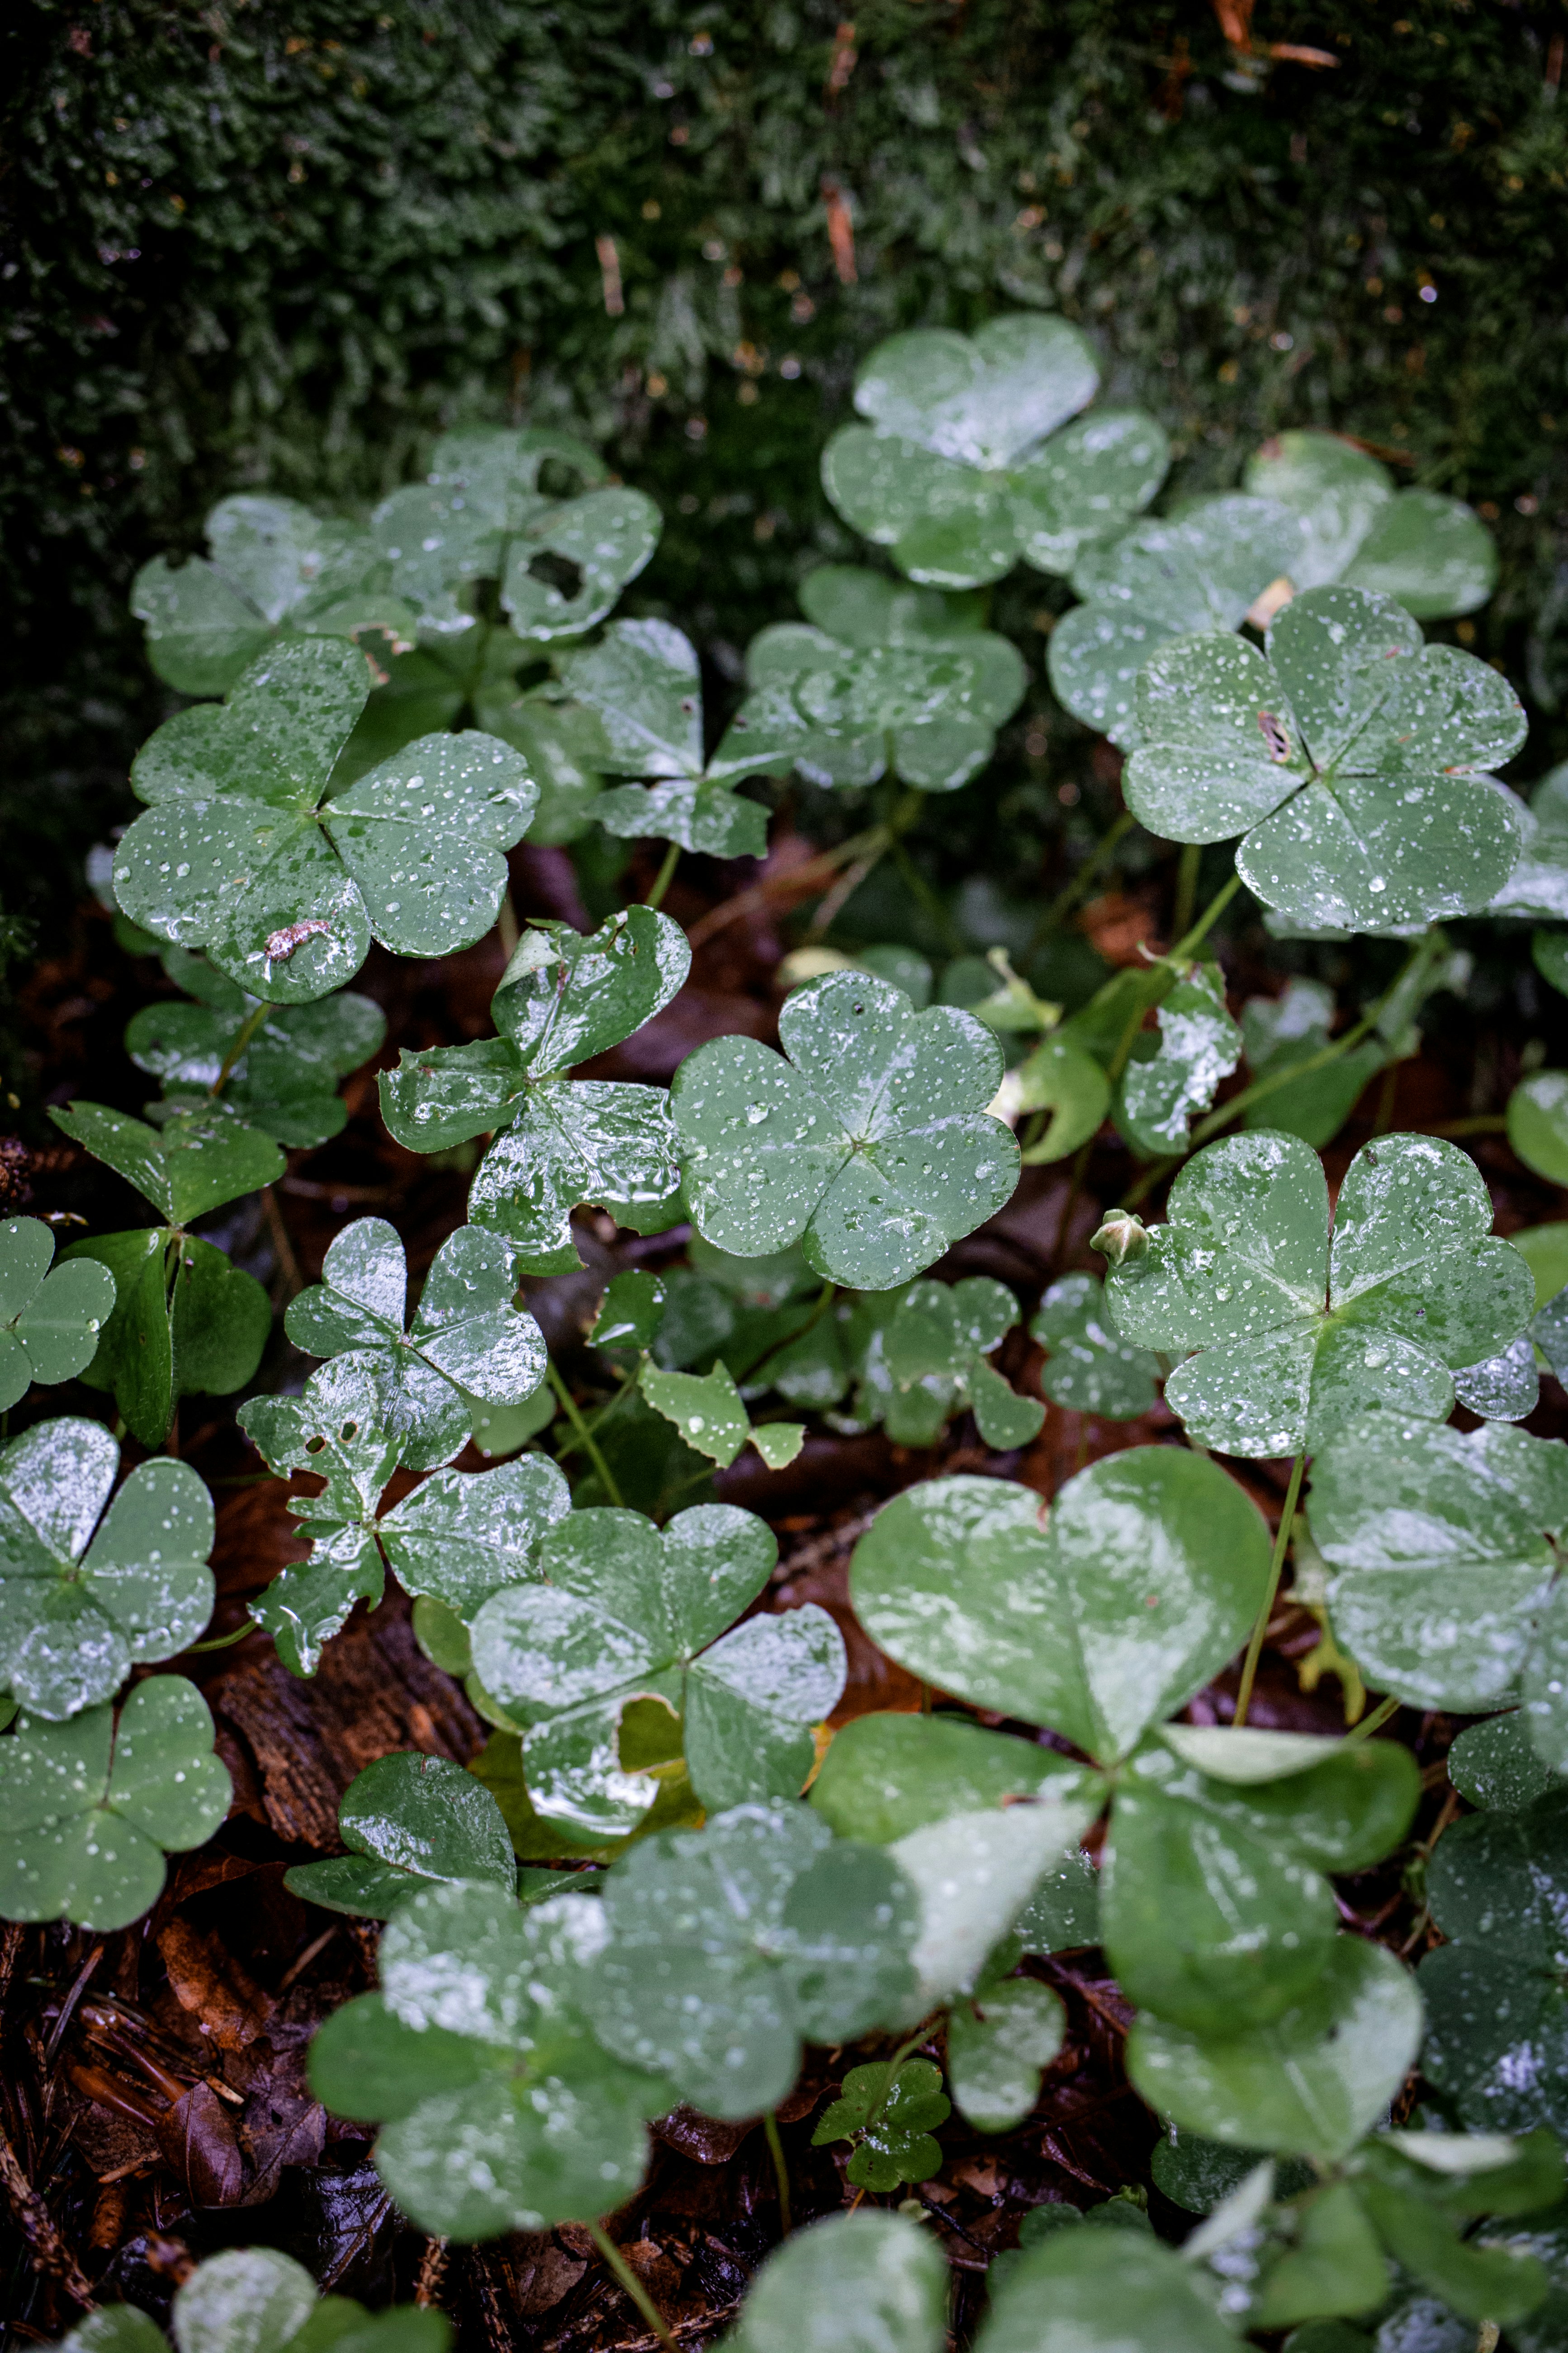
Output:
<path fill-rule="evenodd" d="M 943 2353 L 947 2264 L 903 2214 L 830 2214 L 752 2273 L 731 2353 Z"/>

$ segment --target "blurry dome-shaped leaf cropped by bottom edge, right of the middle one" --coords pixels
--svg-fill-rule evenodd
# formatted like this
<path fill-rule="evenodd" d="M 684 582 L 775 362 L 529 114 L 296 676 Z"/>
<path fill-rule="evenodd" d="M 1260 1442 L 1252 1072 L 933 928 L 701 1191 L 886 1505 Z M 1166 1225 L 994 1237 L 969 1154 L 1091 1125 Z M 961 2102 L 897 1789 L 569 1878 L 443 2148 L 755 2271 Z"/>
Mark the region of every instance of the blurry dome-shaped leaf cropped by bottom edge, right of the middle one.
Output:
<path fill-rule="evenodd" d="M 1084 2353 L 1234 2353 L 1237 2339 L 1192 2268 L 1131 2231 L 1053 2231 L 997 2289 L 976 2353 L 1037 2353 L 1041 2313 Z"/>

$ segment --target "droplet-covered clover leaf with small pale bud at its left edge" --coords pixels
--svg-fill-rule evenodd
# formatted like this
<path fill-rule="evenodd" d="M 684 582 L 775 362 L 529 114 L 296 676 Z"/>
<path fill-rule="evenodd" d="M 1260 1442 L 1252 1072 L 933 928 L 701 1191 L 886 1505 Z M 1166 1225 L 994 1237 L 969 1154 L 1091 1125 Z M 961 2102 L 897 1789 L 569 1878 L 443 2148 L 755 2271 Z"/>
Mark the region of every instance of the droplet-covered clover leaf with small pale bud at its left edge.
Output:
<path fill-rule="evenodd" d="M 1535 1285 L 1490 1224 L 1474 1160 L 1380 1136 L 1349 1162 L 1331 1240 L 1316 1155 L 1258 1129 L 1182 1167 L 1168 1224 L 1131 1233 L 1105 1299 L 1128 1341 L 1187 1358 L 1166 1405 L 1199 1445 L 1316 1452 L 1375 1405 L 1446 1419 L 1450 1367 L 1523 1329 Z"/>

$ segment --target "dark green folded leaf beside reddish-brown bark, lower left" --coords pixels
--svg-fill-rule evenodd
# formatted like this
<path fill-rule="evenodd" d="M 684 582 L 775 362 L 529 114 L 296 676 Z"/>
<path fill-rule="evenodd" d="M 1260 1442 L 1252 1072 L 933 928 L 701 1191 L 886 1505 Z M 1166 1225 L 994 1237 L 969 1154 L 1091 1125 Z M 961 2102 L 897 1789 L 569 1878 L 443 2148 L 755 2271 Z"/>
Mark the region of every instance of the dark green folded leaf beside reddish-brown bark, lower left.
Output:
<path fill-rule="evenodd" d="M 284 1873 L 296 1897 L 327 1911 L 386 1920 L 433 1880 L 484 1880 L 517 1892 L 501 1807 L 451 1758 L 407 1748 L 376 1758 L 339 1800 L 339 1838 L 348 1854 Z"/>

